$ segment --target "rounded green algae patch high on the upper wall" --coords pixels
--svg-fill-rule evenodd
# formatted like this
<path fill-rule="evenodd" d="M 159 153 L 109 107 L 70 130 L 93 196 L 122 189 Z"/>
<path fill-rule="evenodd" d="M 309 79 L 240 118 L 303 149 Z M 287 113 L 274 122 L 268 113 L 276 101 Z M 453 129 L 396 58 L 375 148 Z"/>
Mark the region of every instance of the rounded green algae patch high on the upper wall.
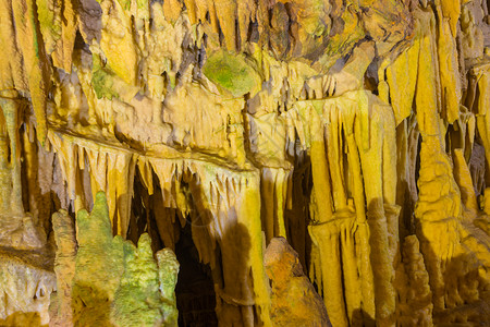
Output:
<path fill-rule="evenodd" d="M 230 55 L 224 50 L 213 52 L 206 61 L 203 72 L 212 83 L 233 97 L 241 97 L 247 93 L 253 96 L 261 87 L 260 75 L 244 55 Z"/>

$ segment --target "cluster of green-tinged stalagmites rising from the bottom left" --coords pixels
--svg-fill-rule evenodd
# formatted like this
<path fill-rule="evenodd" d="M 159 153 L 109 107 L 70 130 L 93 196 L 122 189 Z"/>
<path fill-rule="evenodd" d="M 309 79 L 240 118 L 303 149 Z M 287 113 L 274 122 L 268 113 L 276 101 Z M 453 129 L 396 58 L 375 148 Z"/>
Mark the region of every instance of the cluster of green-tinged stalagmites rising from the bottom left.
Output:
<path fill-rule="evenodd" d="M 179 263 L 171 250 L 154 259 L 150 238 L 136 247 L 112 238 L 106 195 L 97 193 L 90 214 L 53 215 L 58 292 L 50 326 L 176 326 Z"/>

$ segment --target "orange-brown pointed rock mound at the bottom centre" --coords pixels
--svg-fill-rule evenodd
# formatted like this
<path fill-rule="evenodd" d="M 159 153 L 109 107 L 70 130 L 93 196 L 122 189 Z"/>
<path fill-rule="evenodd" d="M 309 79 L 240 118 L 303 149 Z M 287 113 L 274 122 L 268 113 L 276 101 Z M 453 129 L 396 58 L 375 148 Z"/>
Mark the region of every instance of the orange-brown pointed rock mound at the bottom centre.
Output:
<path fill-rule="evenodd" d="M 284 238 L 270 241 L 264 255 L 272 284 L 273 326 L 332 326 L 324 303 L 305 276 L 297 253 Z"/>

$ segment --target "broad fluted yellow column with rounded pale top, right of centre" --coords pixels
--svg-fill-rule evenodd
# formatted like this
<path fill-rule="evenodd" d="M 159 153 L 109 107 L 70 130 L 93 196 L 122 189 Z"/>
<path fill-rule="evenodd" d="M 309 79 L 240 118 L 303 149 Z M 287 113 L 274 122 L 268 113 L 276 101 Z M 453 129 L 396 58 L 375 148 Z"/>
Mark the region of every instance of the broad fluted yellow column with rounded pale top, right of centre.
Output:
<path fill-rule="evenodd" d="M 366 325 L 375 318 L 392 325 L 400 213 L 392 110 L 365 92 L 350 92 L 324 101 L 321 123 L 315 117 L 311 168 L 317 222 L 309 231 L 319 251 L 327 310 L 334 325 Z"/>

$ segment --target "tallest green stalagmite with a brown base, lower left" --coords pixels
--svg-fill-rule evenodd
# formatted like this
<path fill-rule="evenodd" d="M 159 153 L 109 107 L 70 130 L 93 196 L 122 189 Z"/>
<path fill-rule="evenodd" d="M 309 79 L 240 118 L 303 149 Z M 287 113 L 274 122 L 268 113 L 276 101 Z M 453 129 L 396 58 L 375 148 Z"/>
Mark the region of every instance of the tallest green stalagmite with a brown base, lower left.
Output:
<path fill-rule="evenodd" d="M 110 303 L 124 271 L 123 240 L 112 238 L 107 198 L 97 193 L 90 214 L 76 216 L 78 251 L 73 280 L 74 323 L 109 322 Z"/>

